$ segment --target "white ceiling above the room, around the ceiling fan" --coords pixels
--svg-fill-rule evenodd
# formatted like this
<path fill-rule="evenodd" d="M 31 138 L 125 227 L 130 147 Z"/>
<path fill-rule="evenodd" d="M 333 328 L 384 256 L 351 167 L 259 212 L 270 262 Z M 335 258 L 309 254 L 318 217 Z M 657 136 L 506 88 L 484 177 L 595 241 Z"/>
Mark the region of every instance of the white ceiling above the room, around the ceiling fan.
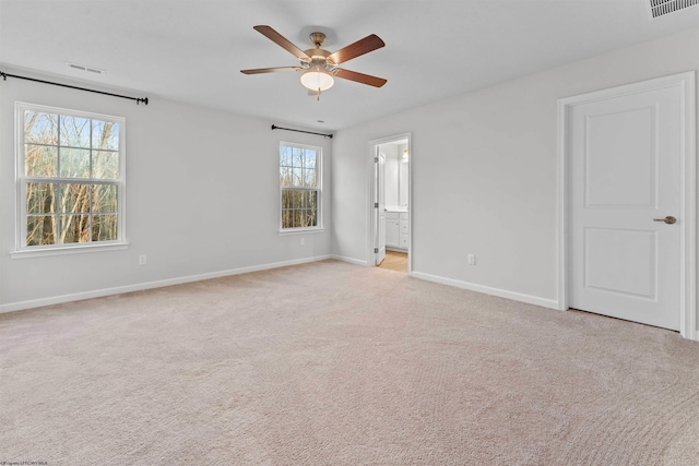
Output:
<path fill-rule="evenodd" d="M 650 20 L 648 1 L 0 0 L 0 64 L 337 130 L 699 27 L 699 7 Z M 388 84 L 335 80 L 317 101 L 297 73 L 244 75 L 298 63 L 252 29 L 262 24 L 301 49 L 316 29 L 330 51 L 377 34 L 384 48 L 342 68 Z M 67 61 L 106 74 L 85 76 Z"/>

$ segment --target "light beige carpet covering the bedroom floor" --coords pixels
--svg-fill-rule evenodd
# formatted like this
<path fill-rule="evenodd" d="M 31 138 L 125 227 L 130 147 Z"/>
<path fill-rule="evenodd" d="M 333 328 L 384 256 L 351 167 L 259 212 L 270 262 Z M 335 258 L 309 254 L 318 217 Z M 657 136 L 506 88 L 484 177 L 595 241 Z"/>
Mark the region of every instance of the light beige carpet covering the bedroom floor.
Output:
<path fill-rule="evenodd" d="M 0 315 L 0 463 L 697 465 L 699 344 L 336 261 Z"/>

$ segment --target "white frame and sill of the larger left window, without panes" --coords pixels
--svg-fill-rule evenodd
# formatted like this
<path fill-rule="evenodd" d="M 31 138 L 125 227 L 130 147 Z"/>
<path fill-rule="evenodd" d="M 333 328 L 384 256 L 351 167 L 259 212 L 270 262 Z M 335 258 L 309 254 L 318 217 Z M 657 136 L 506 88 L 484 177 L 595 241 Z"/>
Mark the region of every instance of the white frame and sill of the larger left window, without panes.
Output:
<path fill-rule="evenodd" d="M 119 178 L 100 181 L 98 179 L 64 177 L 27 177 L 24 174 L 24 112 L 26 110 L 45 113 L 58 113 L 68 117 L 90 118 L 119 124 Z M 67 244 L 26 244 L 26 184 L 27 182 L 78 182 L 90 184 L 116 184 L 118 187 L 117 239 L 112 241 L 78 242 Z M 35 258 L 81 252 L 96 252 L 114 249 L 126 249 L 126 118 L 100 115 L 88 111 L 72 110 L 45 105 L 15 103 L 15 250 L 10 253 L 13 259 Z"/>

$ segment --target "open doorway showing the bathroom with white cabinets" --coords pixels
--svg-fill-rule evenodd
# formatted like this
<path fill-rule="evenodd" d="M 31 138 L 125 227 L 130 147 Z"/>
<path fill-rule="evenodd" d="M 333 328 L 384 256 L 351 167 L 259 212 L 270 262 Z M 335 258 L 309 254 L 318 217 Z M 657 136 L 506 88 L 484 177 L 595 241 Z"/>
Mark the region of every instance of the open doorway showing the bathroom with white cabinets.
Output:
<path fill-rule="evenodd" d="M 369 143 L 371 154 L 371 250 L 374 266 L 411 273 L 411 135 Z"/>

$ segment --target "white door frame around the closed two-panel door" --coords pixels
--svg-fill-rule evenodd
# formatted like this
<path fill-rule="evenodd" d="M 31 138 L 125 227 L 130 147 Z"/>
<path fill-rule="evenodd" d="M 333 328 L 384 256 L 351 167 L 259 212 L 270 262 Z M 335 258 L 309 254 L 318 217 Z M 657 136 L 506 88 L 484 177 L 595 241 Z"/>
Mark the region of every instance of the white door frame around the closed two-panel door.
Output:
<path fill-rule="evenodd" d="M 679 334 L 697 340 L 697 152 L 696 152 L 696 97 L 695 71 L 672 74 L 603 91 L 595 91 L 558 99 L 558 147 L 557 147 L 557 220 L 556 220 L 556 268 L 557 307 L 569 309 L 571 286 L 571 164 L 570 164 L 570 110 L 572 107 L 611 97 L 637 94 L 666 87 L 679 87 L 683 105 L 683 147 L 680 165 L 684 170 L 679 215 L 680 224 L 680 297 Z"/>

